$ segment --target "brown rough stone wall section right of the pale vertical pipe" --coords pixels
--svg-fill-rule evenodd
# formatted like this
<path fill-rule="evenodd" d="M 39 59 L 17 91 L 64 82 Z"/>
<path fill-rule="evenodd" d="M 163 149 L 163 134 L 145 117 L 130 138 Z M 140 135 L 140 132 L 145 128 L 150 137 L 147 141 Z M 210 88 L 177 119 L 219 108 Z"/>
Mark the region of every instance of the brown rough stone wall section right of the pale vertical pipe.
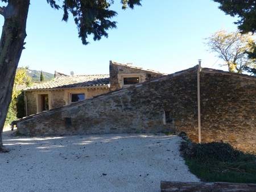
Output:
<path fill-rule="evenodd" d="M 256 153 L 256 78 L 203 69 L 200 73 L 201 141 L 224 141 Z M 198 129 L 181 129 L 195 142 Z"/>

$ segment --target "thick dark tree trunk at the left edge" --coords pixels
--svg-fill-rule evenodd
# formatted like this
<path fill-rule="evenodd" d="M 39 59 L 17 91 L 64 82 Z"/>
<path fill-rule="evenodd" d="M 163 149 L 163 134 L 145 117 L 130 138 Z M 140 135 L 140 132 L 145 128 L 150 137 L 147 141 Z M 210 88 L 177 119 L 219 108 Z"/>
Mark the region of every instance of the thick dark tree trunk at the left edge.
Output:
<path fill-rule="evenodd" d="M 3 147 L 2 132 L 11 102 L 16 68 L 26 37 L 26 21 L 30 0 L 9 0 L 0 13 L 5 18 L 0 40 L 0 152 Z"/>

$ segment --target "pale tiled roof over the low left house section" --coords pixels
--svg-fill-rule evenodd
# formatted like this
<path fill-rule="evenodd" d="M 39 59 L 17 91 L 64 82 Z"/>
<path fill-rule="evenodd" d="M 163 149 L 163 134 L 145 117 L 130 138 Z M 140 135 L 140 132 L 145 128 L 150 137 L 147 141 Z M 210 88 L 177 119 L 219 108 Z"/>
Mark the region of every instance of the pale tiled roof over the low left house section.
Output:
<path fill-rule="evenodd" d="M 106 86 L 109 84 L 109 74 L 61 76 L 51 81 L 39 82 L 23 90 L 67 89 L 76 87 Z"/>

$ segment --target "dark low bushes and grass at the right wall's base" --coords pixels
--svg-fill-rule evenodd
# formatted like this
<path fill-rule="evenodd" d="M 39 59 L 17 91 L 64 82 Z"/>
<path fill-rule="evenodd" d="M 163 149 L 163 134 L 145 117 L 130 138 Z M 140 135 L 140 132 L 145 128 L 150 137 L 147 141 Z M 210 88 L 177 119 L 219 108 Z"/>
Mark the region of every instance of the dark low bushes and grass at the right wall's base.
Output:
<path fill-rule="evenodd" d="M 237 151 L 228 143 L 192 143 L 180 147 L 189 170 L 203 182 L 256 183 L 256 156 Z"/>

